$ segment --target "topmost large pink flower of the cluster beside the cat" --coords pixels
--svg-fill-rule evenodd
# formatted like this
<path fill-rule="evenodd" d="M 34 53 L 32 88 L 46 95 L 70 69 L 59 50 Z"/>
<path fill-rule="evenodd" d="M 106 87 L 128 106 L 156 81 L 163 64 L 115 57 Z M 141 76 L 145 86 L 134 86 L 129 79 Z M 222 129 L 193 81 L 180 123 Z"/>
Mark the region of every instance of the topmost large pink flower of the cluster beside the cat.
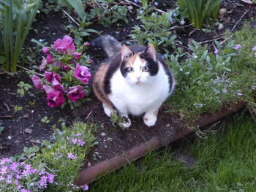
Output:
<path fill-rule="evenodd" d="M 73 39 L 68 35 L 65 35 L 63 39 L 57 39 L 53 43 L 54 50 L 58 51 L 59 53 L 67 53 L 69 51 L 75 51 L 75 45 L 73 43 Z"/>

